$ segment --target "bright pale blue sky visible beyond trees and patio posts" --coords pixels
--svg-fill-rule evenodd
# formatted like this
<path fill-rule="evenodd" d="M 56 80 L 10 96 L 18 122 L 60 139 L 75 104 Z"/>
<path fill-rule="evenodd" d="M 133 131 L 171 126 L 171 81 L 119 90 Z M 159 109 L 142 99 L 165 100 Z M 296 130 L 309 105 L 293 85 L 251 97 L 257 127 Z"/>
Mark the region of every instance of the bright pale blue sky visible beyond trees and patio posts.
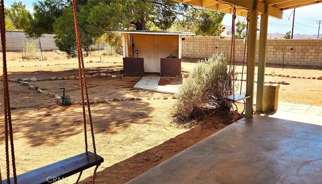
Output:
<path fill-rule="evenodd" d="M 34 0 L 20 0 L 26 5 L 26 8 L 32 13 Z M 5 0 L 5 5 L 10 6 L 15 0 Z M 297 8 L 295 11 L 295 26 L 294 34 L 317 34 L 318 25 L 317 20 L 322 21 L 322 3 L 310 5 L 306 7 Z M 269 18 L 269 33 L 286 33 L 292 29 L 293 10 L 284 11 L 283 20 Z M 290 17 L 290 18 L 289 18 Z M 289 19 L 288 19 L 289 18 Z M 244 18 L 239 17 L 238 20 L 242 21 Z M 260 19 L 259 19 L 260 20 Z M 231 15 L 227 14 L 223 20 L 224 25 L 231 25 Z M 321 25 L 322 26 L 322 25 Z M 320 31 L 321 33 L 321 31 Z"/>

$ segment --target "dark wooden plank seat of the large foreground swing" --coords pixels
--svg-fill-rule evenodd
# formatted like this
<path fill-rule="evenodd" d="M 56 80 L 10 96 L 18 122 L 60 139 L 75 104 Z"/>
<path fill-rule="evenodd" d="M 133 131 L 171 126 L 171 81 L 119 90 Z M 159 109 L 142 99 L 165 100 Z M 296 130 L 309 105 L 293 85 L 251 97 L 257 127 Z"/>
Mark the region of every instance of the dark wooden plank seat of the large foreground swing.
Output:
<path fill-rule="evenodd" d="M 52 163 L 50 165 L 20 174 L 17 176 L 18 183 L 53 183 L 93 166 L 100 165 L 104 162 L 104 158 L 102 158 L 101 156 L 97 155 L 97 160 L 95 160 L 94 153 L 88 153 L 88 155 L 86 155 L 86 153 L 82 153 L 65 160 L 61 160 L 56 163 Z M 14 183 L 14 178 L 12 177 L 10 179 L 10 182 L 7 182 L 7 180 L 5 179 L 2 181 L 2 183 Z"/>

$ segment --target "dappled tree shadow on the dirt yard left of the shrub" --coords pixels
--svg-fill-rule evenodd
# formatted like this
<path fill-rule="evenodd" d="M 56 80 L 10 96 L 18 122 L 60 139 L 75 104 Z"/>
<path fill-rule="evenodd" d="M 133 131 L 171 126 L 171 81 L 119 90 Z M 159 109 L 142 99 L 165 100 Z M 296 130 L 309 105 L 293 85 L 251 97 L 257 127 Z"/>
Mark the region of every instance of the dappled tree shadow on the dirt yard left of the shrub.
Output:
<path fill-rule="evenodd" d="M 22 75 L 20 73 L 19 75 Z M 22 75 L 23 76 L 23 75 Z M 151 93 L 132 90 L 134 84 L 140 78 L 111 79 L 98 77 L 88 80 L 90 101 L 102 98 L 119 99 L 129 96 L 144 96 Z M 62 84 L 66 85 L 66 94 L 72 101 L 80 101 L 78 80 L 62 81 L 37 81 L 32 82 L 41 89 L 62 94 L 57 89 Z M 137 92 L 137 93 L 136 93 Z M 19 83 L 10 83 L 10 98 L 12 120 L 15 139 L 26 139 L 31 146 L 54 146 L 71 136 L 83 132 L 83 111 L 81 105 L 68 107 L 50 105 L 53 97 L 31 90 L 28 86 Z M 87 108 L 86 108 L 87 109 Z M 128 126 L 128 122 L 135 119 L 149 119 L 153 107 L 143 100 L 118 101 L 91 105 L 94 129 L 98 133 L 114 132 L 114 129 L 122 129 Z M 1 117 L 0 119 L 3 119 Z M 140 121 L 142 123 L 147 122 Z M 87 116 L 89 125 L 89 117 Z M 88 131 L 89 131 L 88 127 Z M 4 142 L 4 130 L 0 133 L 0 144 Z"/>

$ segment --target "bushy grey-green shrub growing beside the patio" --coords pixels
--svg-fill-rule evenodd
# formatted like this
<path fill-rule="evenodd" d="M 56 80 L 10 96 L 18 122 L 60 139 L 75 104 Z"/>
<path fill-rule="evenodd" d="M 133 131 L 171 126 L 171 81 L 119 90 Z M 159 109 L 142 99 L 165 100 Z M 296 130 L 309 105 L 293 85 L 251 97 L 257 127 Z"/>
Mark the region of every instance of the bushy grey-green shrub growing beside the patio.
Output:
<path fill-rule="evenodd" d="M 176 115 L 188 120 L 204 109 L 212 107 L 229 109 L 230 103 L 224 97 L 231 91 L 227 59 L 223 54 L 214 54 L 208 59 L 199 60 L 179 89 L 175 104 Z M 231 84 L 231 83 L 229 83 Z"/>

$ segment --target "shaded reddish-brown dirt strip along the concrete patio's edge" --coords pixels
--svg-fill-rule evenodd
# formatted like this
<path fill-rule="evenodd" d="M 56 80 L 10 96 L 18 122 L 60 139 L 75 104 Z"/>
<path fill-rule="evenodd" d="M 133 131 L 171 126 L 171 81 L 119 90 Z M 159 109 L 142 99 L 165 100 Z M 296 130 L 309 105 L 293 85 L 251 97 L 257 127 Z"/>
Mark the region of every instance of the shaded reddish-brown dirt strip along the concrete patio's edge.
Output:
<path fill-rule="evenodd" d="M 208 112 L 197 120 L 190 120 L 190 122 L 184 123 L 177 122 L 176 124 L 189 124 L 195 127 L 175 138 L 169 139 L 163 144 L 105 168 L 97 173 L 96 182 L 125 183 L 218 132 L 232 122 L 233 115 L 229 111 Z M 88 177 L 80 183 L 91 183 L 91 181 L 92 177 Z"/>

